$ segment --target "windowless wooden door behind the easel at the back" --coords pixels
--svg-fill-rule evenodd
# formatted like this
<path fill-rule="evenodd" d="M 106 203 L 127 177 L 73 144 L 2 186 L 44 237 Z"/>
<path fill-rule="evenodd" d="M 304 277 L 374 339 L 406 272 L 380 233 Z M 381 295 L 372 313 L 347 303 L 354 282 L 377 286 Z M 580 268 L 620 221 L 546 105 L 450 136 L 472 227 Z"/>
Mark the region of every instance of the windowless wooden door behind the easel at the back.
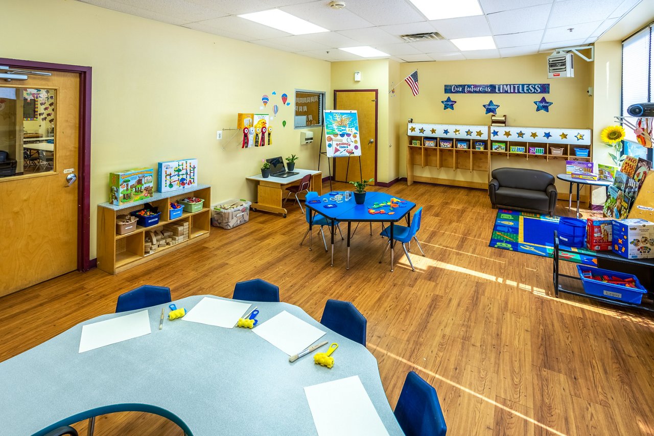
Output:
<path fill-rule="evenodd" d="M 336 180 L 377 180 L 377 90 L 334 91 L 334 109 L 356 110 L 361 139 L 361 156 L 332 159 Z"/>

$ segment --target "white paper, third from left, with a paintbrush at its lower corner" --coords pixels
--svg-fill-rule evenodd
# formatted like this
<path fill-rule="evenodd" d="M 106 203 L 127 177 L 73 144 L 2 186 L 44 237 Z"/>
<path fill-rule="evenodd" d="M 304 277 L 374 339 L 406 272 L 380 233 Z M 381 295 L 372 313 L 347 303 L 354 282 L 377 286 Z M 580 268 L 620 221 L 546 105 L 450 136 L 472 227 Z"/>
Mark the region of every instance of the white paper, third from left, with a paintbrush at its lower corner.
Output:
<path fill-rule="evenodd" d="M 260 326 L 254 327 L 252 331 L 288 356 L 298 354 L 325 334 L 324 331 L 311 326 L 286 310 Z"/>

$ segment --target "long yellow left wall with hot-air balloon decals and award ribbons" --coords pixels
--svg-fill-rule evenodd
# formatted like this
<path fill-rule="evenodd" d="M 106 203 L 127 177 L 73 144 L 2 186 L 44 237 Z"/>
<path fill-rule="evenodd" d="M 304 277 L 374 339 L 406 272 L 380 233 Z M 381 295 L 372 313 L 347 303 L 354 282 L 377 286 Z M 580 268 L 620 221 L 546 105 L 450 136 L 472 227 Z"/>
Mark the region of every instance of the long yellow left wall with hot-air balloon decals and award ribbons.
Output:
<path fill-rule="evenodd" d="M 48 17 L 47 41 L 25 29 L 35 12 Z M 20 37 L 3 44 L 1 56 L 93 67 L 92 235 L 111 171 L 198 158 L 199 182 L 213 186 L 215 203 L 255 199 L 245 176 L 258 173 L 262 159 L 294 153 L 298 167 L 317 166 L 319 141 L 300 146 L 292 97 L 295 88 L 330 90 L 328 62 L 73 0 L 5 0 L 2 15 L 3 34 Z M 216 141 L 216 130 L 236 126 L 237 112 L 272 114 L 273 91 L 291 102 L 279 101 L 273 146 L 241 150 L 233 131 Z M 263 94 L 271 97 L 266 110 L 259 109 Z"/>

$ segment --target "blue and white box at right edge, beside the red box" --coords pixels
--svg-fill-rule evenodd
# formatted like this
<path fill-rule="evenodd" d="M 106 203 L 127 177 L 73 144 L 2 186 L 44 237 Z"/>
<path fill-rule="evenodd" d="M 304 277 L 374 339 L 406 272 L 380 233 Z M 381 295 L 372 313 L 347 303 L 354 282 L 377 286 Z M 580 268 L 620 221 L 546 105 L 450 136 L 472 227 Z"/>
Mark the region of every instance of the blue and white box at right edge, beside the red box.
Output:
<path fill-rule="evenodd" d="M 654 223 L 640 218 L 613 220 L 613 252 L 627 259 L 654 258 Z"/>

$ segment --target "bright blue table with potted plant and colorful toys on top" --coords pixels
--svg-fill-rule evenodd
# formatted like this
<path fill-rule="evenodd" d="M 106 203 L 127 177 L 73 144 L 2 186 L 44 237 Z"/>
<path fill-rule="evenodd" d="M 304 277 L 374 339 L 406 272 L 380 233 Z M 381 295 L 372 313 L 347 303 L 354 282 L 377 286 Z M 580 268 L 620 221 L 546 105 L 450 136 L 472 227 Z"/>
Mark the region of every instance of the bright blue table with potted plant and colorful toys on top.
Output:
<path fill-rule="evenodd" d="M 389 195 L 385 192 L 368 192 L 366 193 L 366 201 L 364 204 L 357 205 L 354 201 L 354 196 L 348 201 L 337 202 L 332 200 L 334 195 L 343 194 L 343 192 L 330 192 L 324 195 L 317 197 L 317 203 L 307 201 L 306 206 L 332 222 L 332 266 L 334 266 L 334 235 L 336 228 L 334 226 L 335 222 L 347 222 L 347 261 L 345 267 L 349 269 L 350 267 L 350 240 L 351 240 L 351 227 L 353 222 L 387 222 L 390 225 L 390 271 L 393 271 L 393 263 L 395 256 L 395 240 L 393 239 L 393 227 L 394 224 L 402 218 L 406 218 L 407 224 L 409 223 L 409 212 L 415 207 L 415 203 L 407 201 L 393 195 Z M 390 199 L 396 198 L 400 200 L 399 207 L 383 207 L 387 213 L 375 213 L 371 214 L 368 212 L 375 203 L 388 203 Z M 326 199 L 327 201 L 324 201 Z M 379 209 L 374 209 L 379 210 Z M 394 212 L 394 214 L 389 215 L 388 212 Z M 311 244 L 311 227 L 313 226 L 313 216 L 311 214 L 311 222 L 309 222 L 309 244 Z M 371 231 L 372 234 L 372 231 Z M 309 245 L 311 246 L 311 245 Z"/>

